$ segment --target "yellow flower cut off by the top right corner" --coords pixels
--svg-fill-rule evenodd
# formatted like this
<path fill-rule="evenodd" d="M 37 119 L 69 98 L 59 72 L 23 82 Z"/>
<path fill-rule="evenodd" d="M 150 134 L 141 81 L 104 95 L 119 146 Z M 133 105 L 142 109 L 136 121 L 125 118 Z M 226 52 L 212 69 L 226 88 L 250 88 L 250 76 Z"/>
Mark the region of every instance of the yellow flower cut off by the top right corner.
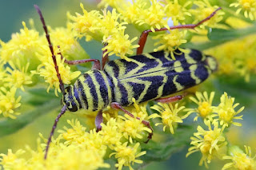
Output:
<path fill-rule="evenodd" d="M 250 18 L 250 20 L 255 20 L 256 2 L 254 0 L 237 0 L 237 2 L 231 3 L 230 7 L 231 6 L 238 8 L 236 14 L 239 14 L 243 10 L 246 18 Z"/>

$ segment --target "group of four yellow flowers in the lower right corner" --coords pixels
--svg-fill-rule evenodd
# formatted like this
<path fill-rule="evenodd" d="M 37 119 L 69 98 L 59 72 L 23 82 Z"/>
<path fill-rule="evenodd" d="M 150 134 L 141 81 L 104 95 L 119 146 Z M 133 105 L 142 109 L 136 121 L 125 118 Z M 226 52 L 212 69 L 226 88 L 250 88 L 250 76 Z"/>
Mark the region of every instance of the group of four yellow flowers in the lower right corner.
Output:
<path fill-rule="evenodd" d="M 198 117 L 202 117 L 207 129 L 198 125 L 198 132 L 194 132 L 194 136 L 191 136 L 190 144 L 193 145 L 188 149 L 186 156 L 194 152 L 201 152 L 202 158 L 199 161 L 199 165 L 205 164 L 208 168 L 211 160 L 218 158 L 219 160 L 230 159 L 233 162 L 227 163 L 223 166 L 223 170 L 227 168 L 236 169 L 254 169 L 256 161 L 254 157 L 251 157 L 250 147 L 246 147 L 246 153 L 242 152 L 238 146 L 233 146 L 226 140 L 226 128 L 230 125 L 242 126 L 241 123 L 233 122 L 236 119 L 242 119 L 242 116 L 236 116 L 241 113 L 244 107 L 235 111 L 234 108 L 239 104 L 234 104 L 234 97 L 228 97 L 227 93 L 224 93 L 220 98 L 220 104 L 213 106 L 214 93 L 210 93 L 210 97 L 206 92 L 196 93 L 194 97 L 190 97 L 191 101 L 194 101 L 198 105 L 197 109 L 185 109 L 187 114 L 197 113 L 194 121 L 198 121 Z"/>

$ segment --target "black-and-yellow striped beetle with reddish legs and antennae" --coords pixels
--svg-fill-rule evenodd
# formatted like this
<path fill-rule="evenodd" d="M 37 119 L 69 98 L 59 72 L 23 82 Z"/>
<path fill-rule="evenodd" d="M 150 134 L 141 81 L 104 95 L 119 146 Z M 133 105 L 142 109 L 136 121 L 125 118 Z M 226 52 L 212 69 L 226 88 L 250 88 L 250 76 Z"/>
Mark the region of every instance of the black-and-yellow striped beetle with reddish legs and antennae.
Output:
<path fill-rule="evenodd" d="M 62 109 L 58 117 L 56 117 L 50 132 L 46 145 L 45 159 L 58 120 L 66 113 L 66 110 L 70 112 L 76 112 L 78 109 L 98 111 L 95 125 L 97 130 L 101 130 L 102 109 L 106 109 L 108 105 L 114 109 L 121 109 L 123 112 L 130 115 L 130 117 L 134 117 L 132 113 L 123 108 L 123 106 L 132 105 L 133 98 L 137 103 L 152 100 L 160 102 L 181 100 L 182 95 L 174 97 L 166 96 L 202 83 L 202 81 L 205 81 L 218 67 L 214 57 L 204 55 L 196 49 L 190 49 L 189 53 L 182 53 L 176 49 L 174 53 L 176 60 L 173 60 L 170 54 L 166 55 L 164 51 L 142 54 L 146 38 L 148 34 L 152 32 L 152 30 L 145 30 L 142 32 L 138 41 L 139 47 L 137 49 L 137 55 L 129 57 L 130 61 L 117 59 L 106 63 L 107 56 L 105 56 L 102 57 L 101 69 L 100 61 L 96 59 L 77 61 L 67 61 L 65 59 L 66 64 L 69 65 L 77 65 L 91 61 L 94 62 L 94 65 L 90 71 L 78 77 L 74 85 L 64 88 L 45 20 L 42 17 L 42 12 L 39 7 L 37 5 L 34 5 L 34 7 L 40 16 L 62 91 Z M 203 22 L 210 20 L 220 9 L 221 8 L 218 8 L 210 14 L 209 17 L 197 24 L 170 26 L 169 29 L 161 28 L 155 31 L 194 29 Z M 60 47 L 58 46 L 58 48 Z M 62 57 L 62 53 L 58 54 Z M 140 119 L 139 117 L 136 118 Z M 153 135 L 153 128 L 151 128 L 150 122 L 148 121 L 142 121 L 142 124 L 151 129 L 151 133 L 148 136 L 148 140 L 150 140 Z"/>

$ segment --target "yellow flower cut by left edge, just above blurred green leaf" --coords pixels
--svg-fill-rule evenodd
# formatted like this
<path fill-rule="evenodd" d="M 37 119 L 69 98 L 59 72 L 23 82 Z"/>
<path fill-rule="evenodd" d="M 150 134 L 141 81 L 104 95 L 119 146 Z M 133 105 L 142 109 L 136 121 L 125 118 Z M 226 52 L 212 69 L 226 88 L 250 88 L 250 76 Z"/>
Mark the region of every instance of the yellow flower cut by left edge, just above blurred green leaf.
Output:
<path fill-rule="evenodd" d="M 0 89 L 0 114 L 4 117 L 10 117 L 16 119 L 14 115 L 19 115 L 20 113 L 15 112 L 15 109 L 18 109 L 22 104 L 19 103 L 22 97 L 15 97 L 16 88 L 12 87 L 9 91 L 2 87 Z"/>

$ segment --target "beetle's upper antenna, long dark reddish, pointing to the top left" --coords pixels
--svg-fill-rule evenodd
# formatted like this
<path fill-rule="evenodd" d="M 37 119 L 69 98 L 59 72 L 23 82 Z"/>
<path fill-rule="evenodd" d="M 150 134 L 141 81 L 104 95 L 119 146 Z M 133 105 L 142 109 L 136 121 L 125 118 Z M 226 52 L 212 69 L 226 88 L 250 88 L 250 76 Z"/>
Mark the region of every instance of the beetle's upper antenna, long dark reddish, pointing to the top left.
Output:
<path fill-rule="evenodd" d="M 54 65 L 55 65 L 54 68 L 55 68 L 56 73 L 57 73 L 57 77 L 58 77 L 58 81 L 59 81 L 59 88 L 62 90 L 62 93 L 64 94 L 64 85 L 63 85 L 62 77 L 61 77 L 60 73 L 58 72 L 58 65 L 57 65 L 57 61 L 56 61 L 56 56 L 54 55 L 54 48 L 53 48 L 53 45 L 52 45 L 52 43 L 50 42 L 50 35 L 48 34 L 46 22 L 45 22 L 44 18 L 42 17 L 42 12 L 41 12 L 39 6 L 34 5 L 34 8 L 35 8 L 35 10 L 38 11 L 38 14 L 39 14 L 40 19 L 41 19 L 41 22 L 42 22 L 43 30 L 45 30 L 46 39 L 47 39 L 47 42 L 48 42 L 49 48 L 50 48 L 50 53 L 51 53 L 51 56 L 52 56 L 52 58 L 53 58 L 53 60 L 54 60 Z"/>

